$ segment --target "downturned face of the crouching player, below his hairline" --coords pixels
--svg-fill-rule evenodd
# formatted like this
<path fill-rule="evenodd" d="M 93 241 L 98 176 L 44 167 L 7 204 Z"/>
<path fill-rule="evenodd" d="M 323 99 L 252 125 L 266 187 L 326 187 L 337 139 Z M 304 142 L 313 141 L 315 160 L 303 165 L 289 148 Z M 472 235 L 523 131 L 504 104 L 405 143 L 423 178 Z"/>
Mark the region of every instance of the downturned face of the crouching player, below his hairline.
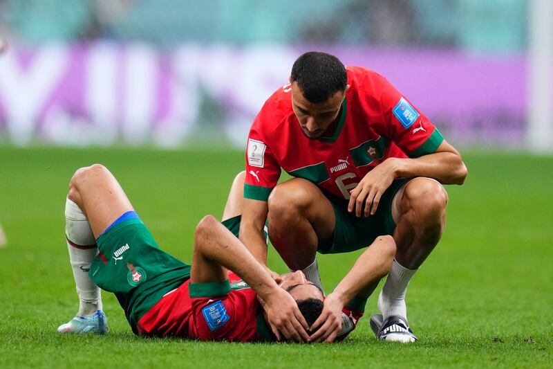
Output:
<path fill-rule="evenodd" d="M 292 109 L 298 118 L 301 131 L 307 138 L 324 136 L 328 127 L 337 120 L 348 87 L 324 102 L 314 103 L 303 96 L 296 82 L 292 82 Z"/>

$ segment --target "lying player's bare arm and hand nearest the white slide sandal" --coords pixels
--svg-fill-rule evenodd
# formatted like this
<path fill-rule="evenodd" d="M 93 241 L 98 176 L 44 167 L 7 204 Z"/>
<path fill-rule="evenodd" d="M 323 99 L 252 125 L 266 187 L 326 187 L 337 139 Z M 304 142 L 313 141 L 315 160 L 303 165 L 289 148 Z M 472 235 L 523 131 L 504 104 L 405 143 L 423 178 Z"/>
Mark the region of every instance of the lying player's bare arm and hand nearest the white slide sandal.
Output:
<path fill-rule="evenodd" d="M 334 341 L 341 328 L 341 311 L 344 306 L 355 296 L 368 297 L 373 292 L 378 281 L 390 271 L 394 255 L 393 237 L 377 237 L 324 300 L 323 312 L 311 326 L 311 330 L 318 328 L 311 336 L 312 341 Z"/>

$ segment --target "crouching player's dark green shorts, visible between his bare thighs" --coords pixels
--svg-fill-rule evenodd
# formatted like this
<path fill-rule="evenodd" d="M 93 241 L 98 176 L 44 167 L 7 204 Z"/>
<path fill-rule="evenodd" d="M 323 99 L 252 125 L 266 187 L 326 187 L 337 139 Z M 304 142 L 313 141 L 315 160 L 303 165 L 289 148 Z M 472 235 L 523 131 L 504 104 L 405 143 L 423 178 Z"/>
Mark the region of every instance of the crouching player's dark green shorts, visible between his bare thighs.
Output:
<path fill-rule="evenodd" d="M 348 253 L 362 249 L 379 235 L 392 235 L 395 222 L 392 217 L 392 201 L 398 190 L 409 178 L 395 179 L 379 201 L 375 215 L 356 217 L 348 213 L 348 200 L 324 192 L 334 208 L 336 225 L 332 244 L 319 245 L 319 253 Z"/>

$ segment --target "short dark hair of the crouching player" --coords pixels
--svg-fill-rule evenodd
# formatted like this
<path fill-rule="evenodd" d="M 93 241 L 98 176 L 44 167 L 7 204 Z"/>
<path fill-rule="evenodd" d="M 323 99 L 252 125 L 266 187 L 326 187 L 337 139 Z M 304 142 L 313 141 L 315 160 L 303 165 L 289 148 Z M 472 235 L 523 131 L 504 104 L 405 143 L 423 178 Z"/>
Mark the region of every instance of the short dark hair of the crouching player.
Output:
<path fill-rule="evenodd" d="M 346 67 L 337 57 L 310 51 L 297 58 L 290 75 L 310 102 L 324 102 L 348 84 Z"/>

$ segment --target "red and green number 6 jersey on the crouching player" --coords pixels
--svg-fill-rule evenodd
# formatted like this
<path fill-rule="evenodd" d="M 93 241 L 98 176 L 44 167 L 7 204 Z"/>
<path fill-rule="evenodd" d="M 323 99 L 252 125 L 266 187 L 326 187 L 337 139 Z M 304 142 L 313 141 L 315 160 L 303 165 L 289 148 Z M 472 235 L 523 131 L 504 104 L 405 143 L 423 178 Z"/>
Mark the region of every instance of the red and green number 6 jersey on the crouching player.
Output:
<path fill-rule="evenodd" d="M 263 105 L 250 129 L 244 197 L 267 201 L 281 169 L 338 197 L 391 158 L 431 154 L 442 134 L 382 75 L 346 67 L 350 89 L 331 137 L 307 138 L 292 111 L 290 84 Z"/>

